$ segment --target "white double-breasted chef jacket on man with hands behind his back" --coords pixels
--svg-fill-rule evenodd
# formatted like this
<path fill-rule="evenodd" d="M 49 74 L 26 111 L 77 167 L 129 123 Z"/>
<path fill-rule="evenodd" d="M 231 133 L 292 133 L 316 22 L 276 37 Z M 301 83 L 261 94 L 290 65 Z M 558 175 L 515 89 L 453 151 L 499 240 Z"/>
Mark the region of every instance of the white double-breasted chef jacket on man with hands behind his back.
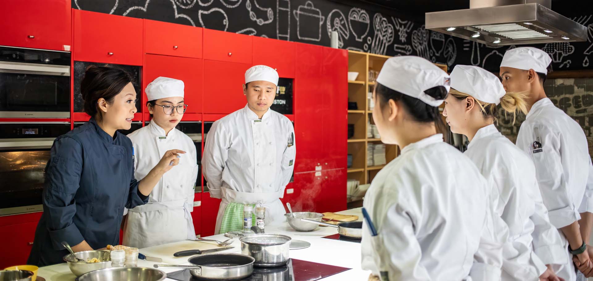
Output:
<path fill-rule="evenodd" d="M 285 221 L 280 198 L 292 177 L 295 149 L 291 121 L 271 109 L 259 119 L 246 105 L 212 124 L 202 171 L 210 196 L 222 199 L 215 233 L 229 202 L 266 207 L 266 225 Z"/>

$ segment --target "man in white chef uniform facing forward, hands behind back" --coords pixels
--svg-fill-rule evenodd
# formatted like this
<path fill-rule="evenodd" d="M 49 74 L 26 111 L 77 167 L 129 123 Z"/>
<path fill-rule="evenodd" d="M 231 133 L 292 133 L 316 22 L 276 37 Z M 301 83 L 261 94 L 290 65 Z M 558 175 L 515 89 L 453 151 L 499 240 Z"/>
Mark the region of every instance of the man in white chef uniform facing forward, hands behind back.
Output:
<path fill-rule="evenodd" d="M 273 68 L 247 69 L 247 105 L 214 122 L 208 133 L 202 171 L 210 196 L 222 199 L 216 234 L 243 229 L 245 205 L 265 207 L 266 225 L 285 221 L 280 198 L 294 169 L 295 142 L 291 121 L 270 109 L 277 86 Z"/>

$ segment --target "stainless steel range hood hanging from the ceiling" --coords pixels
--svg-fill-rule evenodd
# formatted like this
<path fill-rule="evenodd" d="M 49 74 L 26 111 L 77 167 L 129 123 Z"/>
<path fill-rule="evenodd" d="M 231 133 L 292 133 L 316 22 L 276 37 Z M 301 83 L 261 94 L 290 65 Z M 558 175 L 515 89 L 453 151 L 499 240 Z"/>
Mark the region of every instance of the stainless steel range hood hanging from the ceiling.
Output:
<path fill-rule="evenodd" d="M 551 0 L 470 0 L 469 9 L 427 12 L 426 28 L 490 46 L 587 40 L 584 25 L 550 7 Z"/>

